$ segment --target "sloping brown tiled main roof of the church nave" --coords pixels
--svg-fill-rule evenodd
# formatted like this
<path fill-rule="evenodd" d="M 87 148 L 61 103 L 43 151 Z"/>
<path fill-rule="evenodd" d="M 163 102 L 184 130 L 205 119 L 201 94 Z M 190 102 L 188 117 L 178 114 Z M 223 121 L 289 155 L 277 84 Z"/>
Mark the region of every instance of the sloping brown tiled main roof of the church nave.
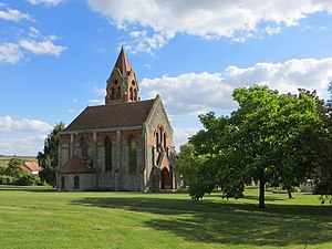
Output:
<path fill-rule="evenodd" d="M 143 125 L 156 98 L 86 107 L 64 132 Z"/>

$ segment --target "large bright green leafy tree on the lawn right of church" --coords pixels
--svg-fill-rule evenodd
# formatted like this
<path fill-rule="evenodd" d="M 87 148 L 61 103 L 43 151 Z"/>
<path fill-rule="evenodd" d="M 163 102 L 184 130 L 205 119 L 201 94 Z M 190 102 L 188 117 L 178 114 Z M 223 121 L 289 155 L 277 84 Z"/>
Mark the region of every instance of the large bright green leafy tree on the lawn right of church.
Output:
<path fill-rule="evenodd" d="M 205 129 L 190 143 L 217 169 L 215 185 L 225 197 L 241 197 L 246 183 L 258 180 L 259 207 L 264 208 L 267 183 L 289 189 L 314 174 L 318 144 L 326 132 L 323 102 L 314 92 L 280 94 L 258 85 L 237 89 L 232 96 L 238 110 L 230 117 L 200 116 Z"/>

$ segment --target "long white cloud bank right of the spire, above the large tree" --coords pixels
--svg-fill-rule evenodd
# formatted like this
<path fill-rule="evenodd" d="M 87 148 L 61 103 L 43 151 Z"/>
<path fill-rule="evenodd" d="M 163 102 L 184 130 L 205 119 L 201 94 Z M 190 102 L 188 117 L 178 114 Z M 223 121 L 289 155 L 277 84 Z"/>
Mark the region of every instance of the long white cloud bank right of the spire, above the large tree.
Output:
<path fill-rule="evenodd" d="M 280 92 L 297 93 L 298 87 L 317 90 L 324 96 L 332 81 L 332 58 L 289 60 L 284 63 L 257 63 L 252 68 L 228 66 L 222 73 L 185 73 L 176 77 L 144 79 L 142 92 L 160 94 L 170 115 L 197 115 L 236 107 L 236 87 L 267 84 Z"/>

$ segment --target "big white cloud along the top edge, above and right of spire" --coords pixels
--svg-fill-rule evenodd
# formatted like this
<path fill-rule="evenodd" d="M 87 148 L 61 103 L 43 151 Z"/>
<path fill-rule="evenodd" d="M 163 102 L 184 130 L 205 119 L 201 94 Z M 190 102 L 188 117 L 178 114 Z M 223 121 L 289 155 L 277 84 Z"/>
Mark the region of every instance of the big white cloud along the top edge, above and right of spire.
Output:
<path fill-rule="evenodd" d="M 176 33 L 243 42 L 258 34 L 280 33 L 282 28 L 298 25 L 302 19 L 319 11 L 332 13 L 330 0 L 301 0 L 301 4 L 298 0 L 87 2 L 93 11 L 128 33 L 136 43 L 135 51 L 146 52 L 162 48 Z"/>

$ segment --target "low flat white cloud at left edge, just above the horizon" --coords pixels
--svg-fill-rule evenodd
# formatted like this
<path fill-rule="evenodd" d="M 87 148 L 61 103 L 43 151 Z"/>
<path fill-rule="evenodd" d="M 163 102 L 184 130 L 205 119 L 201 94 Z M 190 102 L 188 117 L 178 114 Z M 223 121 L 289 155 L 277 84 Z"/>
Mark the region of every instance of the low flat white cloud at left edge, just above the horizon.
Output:
<path fill-rule="evenodd" d="M 11 116 L 0 116 L 0 133 L 13 132 L 49 132 L 51 125 L 43 121 L 22 118 L 20 121 L 13 120 Z"/>

